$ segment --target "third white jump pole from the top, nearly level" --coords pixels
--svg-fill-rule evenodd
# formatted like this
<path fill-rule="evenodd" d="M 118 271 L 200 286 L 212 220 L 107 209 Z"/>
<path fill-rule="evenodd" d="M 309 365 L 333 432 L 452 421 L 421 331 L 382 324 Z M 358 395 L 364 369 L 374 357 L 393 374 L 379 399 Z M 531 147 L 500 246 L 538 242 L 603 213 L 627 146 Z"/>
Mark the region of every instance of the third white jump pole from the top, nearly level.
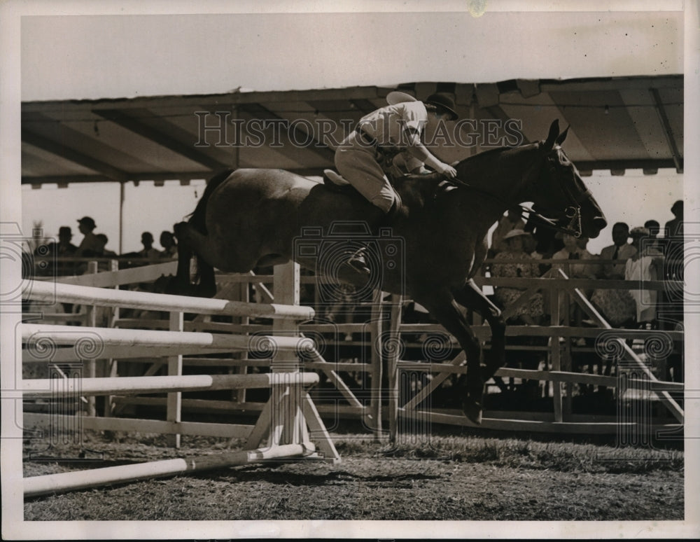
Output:
<path fill-rule="evenodd" d="M 262 389 L 270 386 L 311 386 L 316 373 L 262 373 L 252 375 L 183 375 L 153 377 L 42 378 L 22 380 L 25 398 L 55 398 L 62 394 L 137 395 L 167 391 Z"/>

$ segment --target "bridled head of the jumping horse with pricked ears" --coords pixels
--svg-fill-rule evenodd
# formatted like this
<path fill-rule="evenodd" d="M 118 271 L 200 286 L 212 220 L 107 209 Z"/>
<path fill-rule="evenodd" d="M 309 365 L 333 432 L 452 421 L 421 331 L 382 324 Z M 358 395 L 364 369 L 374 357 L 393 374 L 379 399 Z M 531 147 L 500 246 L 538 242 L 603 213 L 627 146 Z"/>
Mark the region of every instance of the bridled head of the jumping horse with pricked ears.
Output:
<path fill-rule="evenodd" d="M 598 202 L 561 149 L 568 128 L 559 133 L 559 121 L 549 127 L 549 135 L 538 144 L 543 167 L 529 187 L 535 211 L 557 229 L 575 237 L 598 237 L 607 221 Z M 540 216 L 540 218 L 543 218 Z"/>

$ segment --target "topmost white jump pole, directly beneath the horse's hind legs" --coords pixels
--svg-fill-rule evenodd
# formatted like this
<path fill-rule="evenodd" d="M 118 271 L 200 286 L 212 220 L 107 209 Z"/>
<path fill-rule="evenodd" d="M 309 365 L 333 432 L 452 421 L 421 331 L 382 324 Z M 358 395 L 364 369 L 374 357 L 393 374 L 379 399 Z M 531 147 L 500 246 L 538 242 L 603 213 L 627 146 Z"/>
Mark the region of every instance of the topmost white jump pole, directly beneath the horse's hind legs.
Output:
<path fill-rule="evenodd" d="M 31 281 L 22 295 L 36 301 L 127 307 L 131 309 L 228 314 L 230 316 L 309 320 L 314 309 L 277 303 L 245 303 L 225 299 L 190 298 L 167 293 L 112 290 L 55 282 Z"/>

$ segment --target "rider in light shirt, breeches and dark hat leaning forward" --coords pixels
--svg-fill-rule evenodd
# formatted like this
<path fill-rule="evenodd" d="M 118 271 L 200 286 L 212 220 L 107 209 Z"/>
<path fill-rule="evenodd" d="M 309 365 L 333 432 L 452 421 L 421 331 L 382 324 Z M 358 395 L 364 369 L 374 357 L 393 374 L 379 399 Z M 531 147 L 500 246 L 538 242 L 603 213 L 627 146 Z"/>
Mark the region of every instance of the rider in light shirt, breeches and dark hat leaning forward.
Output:
<path fill-rule="evenodd" d="M 361 118 L 356 129 L 342 141 L 335 151 L 335 167 L 389 221 L 400 202 L 384 170 L 391 167 L 398 153 L 408 153 L 415 159 L 410 160 L 410 169 L 424 164 L 449 179 L 457 176 L 454 167 L 435 158 L 421 141 L 426 125 L 432 129 L 437 123 L 456 120 L 454 110 L 454 100 L 441 92 L 423 102 L 400 102 L 377 109 Z M 348 263 L 369 271 L 362 250 L 353 254 Z"/>

